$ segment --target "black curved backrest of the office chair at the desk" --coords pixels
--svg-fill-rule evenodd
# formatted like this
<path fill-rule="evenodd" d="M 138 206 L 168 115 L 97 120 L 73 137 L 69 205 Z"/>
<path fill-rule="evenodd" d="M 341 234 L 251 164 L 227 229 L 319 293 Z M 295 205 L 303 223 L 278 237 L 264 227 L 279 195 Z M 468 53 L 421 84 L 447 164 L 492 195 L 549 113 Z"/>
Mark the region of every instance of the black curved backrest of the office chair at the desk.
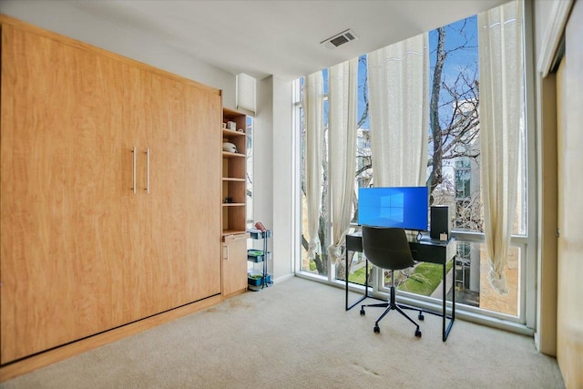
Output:
<path fill-rule="evenodd" d="M 404 229 L 363 226 L 363 251 L 382 269 L 397 271 L 414 265 Z"/>

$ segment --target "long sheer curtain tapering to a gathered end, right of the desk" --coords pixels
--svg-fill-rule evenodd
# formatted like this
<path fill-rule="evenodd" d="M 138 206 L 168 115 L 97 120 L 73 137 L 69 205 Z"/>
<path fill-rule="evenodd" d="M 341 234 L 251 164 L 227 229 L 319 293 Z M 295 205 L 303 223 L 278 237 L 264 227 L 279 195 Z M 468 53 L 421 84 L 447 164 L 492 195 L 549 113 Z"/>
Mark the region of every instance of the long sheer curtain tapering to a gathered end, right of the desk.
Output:
<path fill-rule="evenodd" d="M 490 273 L 505 295 L 505 268 L 517 205 L 519 134 L 524 126 L 522 3 L 479 14 L 481 194 Z"/>

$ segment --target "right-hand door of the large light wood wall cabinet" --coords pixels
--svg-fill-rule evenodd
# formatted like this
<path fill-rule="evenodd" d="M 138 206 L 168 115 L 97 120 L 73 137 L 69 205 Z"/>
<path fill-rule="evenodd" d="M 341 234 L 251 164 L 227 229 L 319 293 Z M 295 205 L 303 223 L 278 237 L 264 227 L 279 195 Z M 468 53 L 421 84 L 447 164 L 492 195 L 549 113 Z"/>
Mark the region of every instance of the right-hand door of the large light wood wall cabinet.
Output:
<path fill-rule="evenodd" d="M 144 241 L 161 312 L 220 293 L 220 95 L 146 76 Z M 148 182 L 146 182 L 148 181 Z M 153 299 L 148 299 L 153 300 Z"/>

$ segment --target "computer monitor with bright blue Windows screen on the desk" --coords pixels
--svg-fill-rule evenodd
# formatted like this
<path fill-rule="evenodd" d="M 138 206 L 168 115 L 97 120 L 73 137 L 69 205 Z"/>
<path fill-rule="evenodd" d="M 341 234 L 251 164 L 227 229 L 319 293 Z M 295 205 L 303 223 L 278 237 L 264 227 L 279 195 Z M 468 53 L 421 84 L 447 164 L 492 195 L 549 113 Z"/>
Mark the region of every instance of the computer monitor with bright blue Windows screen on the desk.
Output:
<path fill-rule="evenodd" d="M 358 224 L 428 230 L 427 187 L 358 189 Z"/>

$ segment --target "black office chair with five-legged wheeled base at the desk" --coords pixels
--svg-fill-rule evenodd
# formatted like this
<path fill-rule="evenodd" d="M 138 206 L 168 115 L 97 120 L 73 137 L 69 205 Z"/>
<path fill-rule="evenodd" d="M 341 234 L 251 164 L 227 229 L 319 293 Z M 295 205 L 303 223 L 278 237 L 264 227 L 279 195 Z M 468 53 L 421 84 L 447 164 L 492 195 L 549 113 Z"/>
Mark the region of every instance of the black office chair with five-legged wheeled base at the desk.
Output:
<path fill-rule="evenodd" d="M 395 302 L 394 290 L 394 271 L 410 268 L 414 265 L 413 255 L 409 248 L 409 241 L 403 229 L 398 228 L 379 228 L 363 226 L 363 252 L 366 258 L 380 269 L 391 271 L 391 298 L 388 302 L 380 304 L 363 304 L 361 306 L 361 315 L 364 315 L 364 307 L 382 307 L 386 308 L 383 314 L 374 322 L 374 333 L 380 333 L 379 322 L 389 311 L 394 310 L 406 317 L 409 322 L 413 322 L 415 336 L 421 337 L 419 324 L 414 322 L 403 310 L 419 311 L 419 320 L 424 320 L 421 310 L 404 304 Z"/>

